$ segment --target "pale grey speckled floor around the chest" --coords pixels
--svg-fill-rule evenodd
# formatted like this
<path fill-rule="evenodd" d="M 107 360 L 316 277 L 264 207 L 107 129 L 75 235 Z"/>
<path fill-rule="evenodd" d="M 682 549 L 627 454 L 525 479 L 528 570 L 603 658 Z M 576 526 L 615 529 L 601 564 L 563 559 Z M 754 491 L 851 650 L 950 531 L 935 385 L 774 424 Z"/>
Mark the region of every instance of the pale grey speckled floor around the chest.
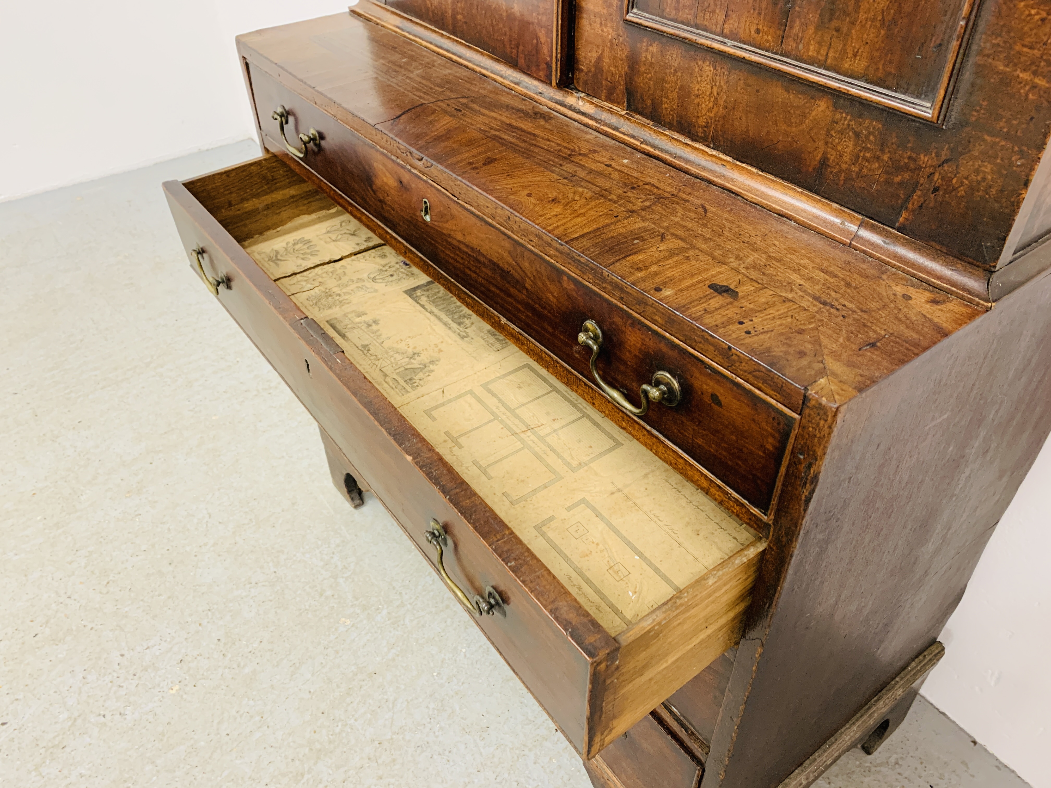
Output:
<path fill-rule="evenodd" d="M 0 785 L 564 786 L 570 746 L 189 271 L 160 183 L 0 204 Z M 1023 788 L 921 701 L 823 788 Z"/>

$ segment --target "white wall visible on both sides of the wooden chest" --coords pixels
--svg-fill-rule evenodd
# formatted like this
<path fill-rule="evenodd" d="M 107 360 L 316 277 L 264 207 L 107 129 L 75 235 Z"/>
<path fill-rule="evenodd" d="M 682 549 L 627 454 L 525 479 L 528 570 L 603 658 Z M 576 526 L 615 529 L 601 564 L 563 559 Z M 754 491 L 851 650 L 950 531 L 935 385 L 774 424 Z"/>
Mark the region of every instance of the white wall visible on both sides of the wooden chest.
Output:
<path fill-rule="evenodd" d="M 253 136 L 239 33 L 347 0 L 97 0 L 2 12 L 0 200 Z M 1051 448 L 943 635 L 924 693 L 1035 788 L 1051 788 Z"/>

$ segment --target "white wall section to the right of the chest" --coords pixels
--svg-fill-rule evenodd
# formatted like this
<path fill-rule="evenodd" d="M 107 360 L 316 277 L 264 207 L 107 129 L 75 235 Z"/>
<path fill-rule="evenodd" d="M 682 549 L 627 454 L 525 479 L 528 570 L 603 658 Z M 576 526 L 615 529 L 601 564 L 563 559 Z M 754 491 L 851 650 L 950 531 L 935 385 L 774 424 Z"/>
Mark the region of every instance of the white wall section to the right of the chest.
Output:
<path fill-rule="evenodd" d="M 982 555 L 923 688 L 1034 788 L 1051 788 L 1049 492 L 1051 440 Z"/>

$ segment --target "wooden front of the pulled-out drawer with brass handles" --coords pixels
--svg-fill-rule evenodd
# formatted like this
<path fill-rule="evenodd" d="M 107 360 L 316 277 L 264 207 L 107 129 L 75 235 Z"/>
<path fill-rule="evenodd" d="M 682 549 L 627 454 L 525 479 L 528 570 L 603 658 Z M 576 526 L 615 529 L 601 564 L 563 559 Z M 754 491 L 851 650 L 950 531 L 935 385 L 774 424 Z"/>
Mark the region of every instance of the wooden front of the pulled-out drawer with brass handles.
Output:
<path fill-rule="evenodd" d="M 275 161 L 275 160 L 274 160 Z M 283 166 L 283 165 L 282 165 Z M 507 617 L 476 623 L 581 752 L 592 663 L 615 647 L 558 580 L 179 183 L 165 184 L 183 245 L 217 279 L 218 298 L 432 562 L 431 518 L 445 565 L 469 595 L 492 585 Z M 417 600 L 424 607 L 430 600 Z M 604 649 L 604 650 L 603 650 Z M 479 677 L 483 679 L 483 677 Z"/>

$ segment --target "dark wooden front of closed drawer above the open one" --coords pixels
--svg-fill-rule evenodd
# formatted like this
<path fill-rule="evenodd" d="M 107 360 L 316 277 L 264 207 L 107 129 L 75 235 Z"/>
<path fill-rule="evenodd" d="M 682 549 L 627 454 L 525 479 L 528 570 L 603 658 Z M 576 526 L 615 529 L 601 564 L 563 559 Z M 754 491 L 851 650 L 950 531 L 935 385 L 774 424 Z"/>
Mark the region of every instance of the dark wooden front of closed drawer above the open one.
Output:
<path fill-rule="evenodd" d="M 257 68 L 251 74 L 267 147 L 285 149 L 279 123 L 270 119 L 284 105 L 292 118 L 289 139 L 292 129 L 297 134 L 309 127 L 321 136 L 321 150 L 311 148 L 302 164 L 589 383 L 591 351 L 577 341 L 586 319 L 602 331 L 599 374 L 633 403 L 640 403 L 639 387 L 654 373 L 673 375 L 682 389 L 674 408 L 652 405 L 639 418 L 607 408 L 606 415 L 659 454 L 655 440 L 674 447 L 751 507 L 770 513 L 792 413 L 497 229 L 268 75 Z"/>

